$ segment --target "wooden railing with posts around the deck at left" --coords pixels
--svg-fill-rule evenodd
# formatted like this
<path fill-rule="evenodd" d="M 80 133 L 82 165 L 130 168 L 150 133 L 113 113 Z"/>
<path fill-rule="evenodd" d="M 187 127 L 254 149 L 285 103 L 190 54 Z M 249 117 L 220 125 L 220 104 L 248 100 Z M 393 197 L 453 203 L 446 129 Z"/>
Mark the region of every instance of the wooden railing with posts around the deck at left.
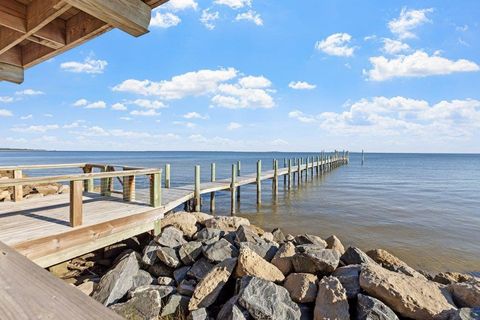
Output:
<path fill-rule="evenodd" d="M 80 174 L 64 174 L 38 177 L 23 177 L 24 170 L 39 169 L 71 169 L 80 168 L 83 173 Z M 100 169 L 100 172 L 93 172 L 93 169 Z M 118 170 L 121 169 L 121 170 Z M 83 193 L 96 193 L 105 197 L 113 196 L 113 194 L 121 194 L 125 201 L 135 201 L 135 181 L 139 176 L 148 178 L 149 187 L 149 204 L 152 207 L 160 207 L 162 205 L 161 184 L 162 169 L 157 168 L 135 168 L 128 166 L 116 166 L 105 164 L 59 164 L 59 165 L 32 165 L 32 166 L 15 166 L 0 167 L 0 172 L 11 171 L 12 179 L 0 180 L 0 188 L 13 188 L 13 200 L 21 201 L 23 199 L 23 186 L 53 184 L 67 182 L 69 184 L 70 193 L 70 225 L 72 227 L 79 226 L 83 223 Z M 122 190 L 114 189 L 115 179 L 122 186 Z M 95 180 L 100 181 L 100 188 L 95 188 Z"/>

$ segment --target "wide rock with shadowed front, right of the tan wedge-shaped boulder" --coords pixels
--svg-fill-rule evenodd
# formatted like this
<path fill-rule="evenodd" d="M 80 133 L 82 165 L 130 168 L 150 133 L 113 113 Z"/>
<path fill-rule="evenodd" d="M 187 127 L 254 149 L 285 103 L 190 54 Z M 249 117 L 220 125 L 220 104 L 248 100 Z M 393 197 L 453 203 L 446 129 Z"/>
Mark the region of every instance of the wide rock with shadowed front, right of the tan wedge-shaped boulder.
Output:
<path fill-rule="evenodd" d="M 298 249 L 298 248 L 297 248 Z M 295 272 L 330 274 L 338 266 L 340 254 L 332 249 L 308 248 L 292 257 Z"/>

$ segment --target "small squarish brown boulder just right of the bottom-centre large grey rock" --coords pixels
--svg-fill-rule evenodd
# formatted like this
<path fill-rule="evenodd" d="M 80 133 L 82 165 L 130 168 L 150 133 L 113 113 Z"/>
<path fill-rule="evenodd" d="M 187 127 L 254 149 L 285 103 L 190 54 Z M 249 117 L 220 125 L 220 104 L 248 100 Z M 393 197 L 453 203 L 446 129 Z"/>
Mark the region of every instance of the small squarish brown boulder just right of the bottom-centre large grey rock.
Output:
<path fill-rule="evenodd" d="M 291 273 L 283 283 L 290 297 L 297 303 L 315 301 L 317 296 L 317 276 L 310 273 Z"/>

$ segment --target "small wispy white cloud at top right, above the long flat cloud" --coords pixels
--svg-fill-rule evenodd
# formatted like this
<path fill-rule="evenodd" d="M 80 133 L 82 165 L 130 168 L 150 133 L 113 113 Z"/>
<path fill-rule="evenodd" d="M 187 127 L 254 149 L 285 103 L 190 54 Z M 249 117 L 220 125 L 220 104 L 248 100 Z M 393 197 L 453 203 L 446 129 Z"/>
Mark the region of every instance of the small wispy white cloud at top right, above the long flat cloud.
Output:
<path fill-rule="evenodd" d="M 403 8 L 400 16 L 388 23 L 388 28 L 399 39 L 416 38 L 413 30 L 424 23 L 430 22 L 427 17 L 433 9 L 407 10 Z"/>

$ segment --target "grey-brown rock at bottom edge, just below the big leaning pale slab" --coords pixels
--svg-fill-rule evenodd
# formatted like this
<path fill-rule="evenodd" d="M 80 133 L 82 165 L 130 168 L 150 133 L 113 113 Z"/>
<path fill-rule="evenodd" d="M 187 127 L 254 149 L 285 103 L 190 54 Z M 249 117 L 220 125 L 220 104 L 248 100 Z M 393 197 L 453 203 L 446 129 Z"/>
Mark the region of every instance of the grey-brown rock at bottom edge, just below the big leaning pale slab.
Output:
<path fill-rule="evenodd" d="M 156 320 L 162 307 L 156 290 L 144 290 L 125 303 L 117 303 L 110 308 L 127 320 Z"/>

